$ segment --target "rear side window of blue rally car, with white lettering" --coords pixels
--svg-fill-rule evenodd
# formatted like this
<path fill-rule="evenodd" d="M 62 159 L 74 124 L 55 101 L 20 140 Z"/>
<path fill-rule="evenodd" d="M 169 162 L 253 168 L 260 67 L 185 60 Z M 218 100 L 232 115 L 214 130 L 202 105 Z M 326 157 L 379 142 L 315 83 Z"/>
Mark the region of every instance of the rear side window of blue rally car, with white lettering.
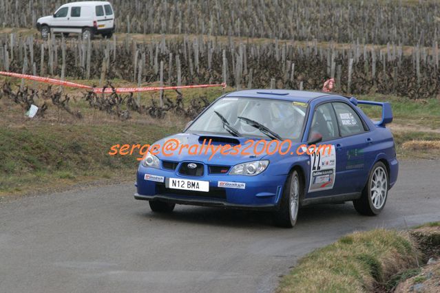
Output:
<path fill-rule="evenodd" d="M 337 123 L 342 136 L 354 135 L 365 131 L 364 124 L 356 111 L 344 102 L 333 102 Z"/>

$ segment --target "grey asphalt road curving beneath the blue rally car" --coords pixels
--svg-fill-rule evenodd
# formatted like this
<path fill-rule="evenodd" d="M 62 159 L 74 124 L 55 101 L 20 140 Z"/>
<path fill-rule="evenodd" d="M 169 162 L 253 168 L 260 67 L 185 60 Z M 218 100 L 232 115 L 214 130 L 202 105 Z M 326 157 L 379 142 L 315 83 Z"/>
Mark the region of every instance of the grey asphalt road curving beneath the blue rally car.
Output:
<path fill-rule="evenodd" d="M 440 161 L 401 163 L 378 217 L 351 203 L 265 213 L 177 206 L 151 213 L 132 184 L 0 202 L 0 292 L 270 292 L 307 252 L 355 230 L 440 220 Z"/>

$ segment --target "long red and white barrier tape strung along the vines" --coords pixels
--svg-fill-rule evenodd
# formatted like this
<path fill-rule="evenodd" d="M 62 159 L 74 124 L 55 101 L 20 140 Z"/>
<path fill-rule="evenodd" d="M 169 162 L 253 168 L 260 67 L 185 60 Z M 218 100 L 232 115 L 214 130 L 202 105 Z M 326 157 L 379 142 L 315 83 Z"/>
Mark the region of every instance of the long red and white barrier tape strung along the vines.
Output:
<path fill-rule="evenodd" d="M 88 85 L 80 85 L 78 83 L 71 83 L 70 81 L 59 80 L 55 78 L 41 77 L 41 76 L 33 76 L 28 74 L 17 74 L 14 72 L 0 72 L 0 75 L 4 76 L 12 76 L 17 78 L 25 78 L 29 80 L 41 81 L 42 83 L 51 83 L 52 85 L 63 85 L 65 87 L 78 87 L 81 89 L 92 89 L 96 94 L 112 94 L 116 92 L 118 94 L 121 93 L 137 93 L 140 91 L 161 91 L 167 89 L 193 89 L 197 87 L 226 87 L 226 83 L 220 83 L 216 85 L 182 85 L 176 87 L 90 87 Z"/>

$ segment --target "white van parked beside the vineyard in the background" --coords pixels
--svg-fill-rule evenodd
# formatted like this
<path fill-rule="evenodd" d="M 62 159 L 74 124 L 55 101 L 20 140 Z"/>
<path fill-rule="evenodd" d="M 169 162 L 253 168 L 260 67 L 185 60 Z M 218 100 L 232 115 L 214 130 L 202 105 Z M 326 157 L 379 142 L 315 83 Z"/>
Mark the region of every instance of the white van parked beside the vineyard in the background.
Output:
<path fill-rule="evenodd" d="M 112 4 L 107 1 L 72 2 L 61 6 L 53 15 L 41 17 L 36 28 L 44 39 L 50 33 L 82 34 L 93 39 L 95 34 L 111 38 L 115 29 Z"/>

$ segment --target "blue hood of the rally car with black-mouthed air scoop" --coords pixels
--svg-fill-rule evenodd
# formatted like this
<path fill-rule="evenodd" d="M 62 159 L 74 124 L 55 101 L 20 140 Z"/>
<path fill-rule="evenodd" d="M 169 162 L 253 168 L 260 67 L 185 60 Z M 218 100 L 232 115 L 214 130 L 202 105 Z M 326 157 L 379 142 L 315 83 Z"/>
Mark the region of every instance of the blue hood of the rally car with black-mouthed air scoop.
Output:
<path fill-rule="evenodd" d="M 266 155 L 266 152 L 262 152 L 260 154 L 255 154 L 253 150 L 255 143 L 252 147 L 245 151 L 248 154 L 243 154 L 242 150 L 245 146 L 249 145 L 245 144 L 249 138 L 240 138 L 233 136 L 224 136 L 224 135 L 205 135 L 205 134 L 193 134 L 193 133 L 178 133 L 175 135 L 170 135 L 167 138 L 163 138 L 162 140 L 158 140 L 154 144 L 160 145 L 160 153 L 157 157 L 160 160 L 168 160 L 174 162 L 181 161 L 196 161 L 196 162 L 204 162 L 206 164 L 218 164 L 218 165 L 235 165 L 241 162 L 251 162 L 255 160 L 261 160 Z M 259 139 L 255 139 L 257 142 Z M 204 143 L 205 141 L 205 143 Z M 211 142 L 210 142 L 211 141 Z M 178 148 L 175 146 L 178 142 Z M 267 140 L 269 142 L 269 140 Z M 151 144 L 153 146 L 154 144 Z M 167 145 L 173 144 L 174 151 L 171 149 L 167 149 Z M 180 146 L 182 144 L 187 144 L 189 147 L 182 148 L 180 151 Z M 231 147 L 241 144 L 240 153 L 237 155 L 232 154 L 221 154 L 220 148 L 222 145 L 230 144 Z M 275 144 L 274 144 L 275 145 Z M 264 144 L 259 144 L 256 148 L 256 153 L 262 150 Z M 164 149 L 167 149 L 164 151 Z M 217 151 L 215 151 L 217 149 Z M 272 148 L 273 149 L 273 148 Z M 180 151 L 180 154 L 179 154 Z M 232 151 L 232 150 L 230 150 Z"/>

